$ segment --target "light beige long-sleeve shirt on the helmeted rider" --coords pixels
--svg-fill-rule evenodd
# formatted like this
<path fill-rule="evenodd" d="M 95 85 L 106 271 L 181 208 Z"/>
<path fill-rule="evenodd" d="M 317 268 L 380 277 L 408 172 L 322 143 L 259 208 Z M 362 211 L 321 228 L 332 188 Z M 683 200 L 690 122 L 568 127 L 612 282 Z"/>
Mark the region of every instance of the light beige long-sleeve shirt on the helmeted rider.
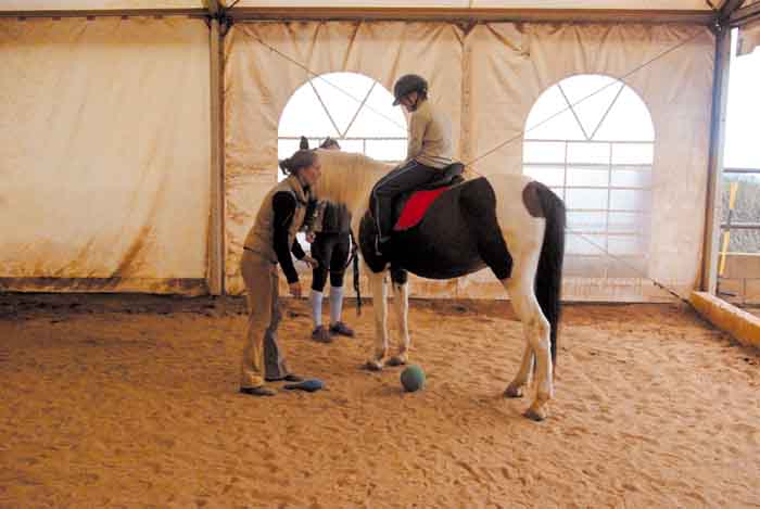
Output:
<path fill-rule="evenodd" d="M 452 164 L 452 123 L 429 100 L 422 101 L 409 118 L 406 161 L 415 160 L 433 168 Z"/>

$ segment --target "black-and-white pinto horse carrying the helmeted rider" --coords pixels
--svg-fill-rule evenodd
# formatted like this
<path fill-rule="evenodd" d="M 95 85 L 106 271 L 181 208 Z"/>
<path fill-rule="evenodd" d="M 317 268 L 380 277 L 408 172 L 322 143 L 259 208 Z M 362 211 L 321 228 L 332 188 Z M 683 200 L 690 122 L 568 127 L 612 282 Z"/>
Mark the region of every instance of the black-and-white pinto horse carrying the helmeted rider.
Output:
<path fill-rule="evenodd" d="M 548 402 L 554 397 L 553 371 L 557 359 L 565 255 L 563 202 L 546 186 L 524 176 L 463 179 L 460 183 L 431 192 L 432 199 L 421 200 L 428 202 L 428 207 L 423 214 L 417 211 L 418 217 L 416 222 L 411 220 L 411 226 L 395 231 L 400 229 L 396 224 L 391 254 L 382 256 L 376 252 L 373 242 L 370 196 L 373 186 L 393 167 L 358 153 L 327 150 L 317 153 L 321 177 L 314 191 L 318 199 L 343 204 L 351 212 L 354 238 L 358 239 L 363 266 L 369 275 L 376 341 L 366 367 L 380 370 L 385 365 L 408 361 L 411 342 L 407 271 L 423 278 L 452 279 L 487 267 L 510 296 L 525 340 L 520 368 L 504 395 L 521 397 L 535 370 L 535 397 L 524 416 L 536 421 L 545 419 Z M 401 344 L 397 354 L 387 360 L 389 272 Z"/>

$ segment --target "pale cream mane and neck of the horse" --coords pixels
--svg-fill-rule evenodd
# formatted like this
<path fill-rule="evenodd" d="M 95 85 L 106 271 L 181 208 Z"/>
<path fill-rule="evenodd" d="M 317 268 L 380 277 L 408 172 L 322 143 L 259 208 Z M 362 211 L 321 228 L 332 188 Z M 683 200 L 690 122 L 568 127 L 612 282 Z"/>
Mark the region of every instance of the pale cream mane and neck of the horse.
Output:
<path fill-rule="evenodd" d="M 372 186 L 392 165 L 364 154 L 337 150 L 317 150 L 322 173 L 314 191 L 319 200 L 344 204 L 352 212 L 368 203 Z"/>

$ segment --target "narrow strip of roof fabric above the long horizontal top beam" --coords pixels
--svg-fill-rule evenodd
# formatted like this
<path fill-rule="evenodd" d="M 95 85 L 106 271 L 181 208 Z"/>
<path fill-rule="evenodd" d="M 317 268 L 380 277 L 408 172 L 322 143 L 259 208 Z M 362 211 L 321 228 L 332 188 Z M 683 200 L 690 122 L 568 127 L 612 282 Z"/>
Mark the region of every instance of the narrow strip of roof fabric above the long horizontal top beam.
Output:
<path fill-rule="evenodd" d="M 226 4 L 235 0 L 225 0 Z M 429 9 L 615 9 L 636 11 L 710 11 L 705 0 L 240 0 L 239 8 L 429 8 Z"/>

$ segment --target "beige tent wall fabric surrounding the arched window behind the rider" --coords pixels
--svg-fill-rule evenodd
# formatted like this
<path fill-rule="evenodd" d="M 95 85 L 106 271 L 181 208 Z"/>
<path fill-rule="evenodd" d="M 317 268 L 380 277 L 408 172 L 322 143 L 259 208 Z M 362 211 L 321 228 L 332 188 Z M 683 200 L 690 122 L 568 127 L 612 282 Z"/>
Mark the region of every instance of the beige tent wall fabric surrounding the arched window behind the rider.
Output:
<path fill-rule="evenodd" d="M 290 97 L 309 75 L 262 46 L 292 55 L 316 73 L 354 72 L 387 89 L 404 73 L 430 76 L 452 116 L 461 112 L 461 31 L 433 23 L 236 23 L 225 39 L 225 246 L 227 290 L 244 290 L 242 242 L 262 198 L 277 181 L 277 135 Z M 403 49 L 403 51 L 402 51 Z M 430 58 L 433 54 L 434 58 Z M 255 122 L 251 122 L 255 118 Z"/>

